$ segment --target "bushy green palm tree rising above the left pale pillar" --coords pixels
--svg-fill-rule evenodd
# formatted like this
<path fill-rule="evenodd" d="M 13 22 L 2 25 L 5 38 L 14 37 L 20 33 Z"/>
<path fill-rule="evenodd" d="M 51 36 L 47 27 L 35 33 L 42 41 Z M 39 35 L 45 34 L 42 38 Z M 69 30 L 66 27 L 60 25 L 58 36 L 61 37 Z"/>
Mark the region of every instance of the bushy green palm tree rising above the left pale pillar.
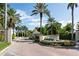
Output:
<path fill-rule="evenodd" d="M 16 11 L 12 8 L 8 9 L 8 27 L 13 28 L 13 34 L 14 34 L 14 29 L 15 29 L 15 24 L 20 22 L 20 15 L 16 14 Z"/>

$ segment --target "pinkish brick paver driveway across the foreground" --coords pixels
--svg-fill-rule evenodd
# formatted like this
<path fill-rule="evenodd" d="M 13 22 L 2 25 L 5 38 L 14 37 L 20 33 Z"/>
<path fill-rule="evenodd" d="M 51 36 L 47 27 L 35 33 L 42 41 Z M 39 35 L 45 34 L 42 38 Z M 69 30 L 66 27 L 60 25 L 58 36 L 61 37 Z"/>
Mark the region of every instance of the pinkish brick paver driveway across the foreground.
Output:
<path fill-rule="evenodd" d="M 20 38 L 18 38 L 20 39 Z M 79 56 L 79 50 L 41 46 L 32 40 L 13 41 L 3 56 Z"/>

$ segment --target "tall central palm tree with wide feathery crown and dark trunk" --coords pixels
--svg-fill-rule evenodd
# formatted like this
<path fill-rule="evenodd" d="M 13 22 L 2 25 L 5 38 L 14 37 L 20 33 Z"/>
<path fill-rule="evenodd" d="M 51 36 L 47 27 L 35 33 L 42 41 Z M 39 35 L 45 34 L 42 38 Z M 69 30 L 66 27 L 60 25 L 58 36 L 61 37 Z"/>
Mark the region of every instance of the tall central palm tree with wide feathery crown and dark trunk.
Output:
<path fill-rule="evenodd" d="M 40 32 L 42 30 L 42 17 L 43 17 L 43 14 L 46 14 L 47 16 L 50 16 L 49 15 L 49 11 L 47 9 L 47 6 L 45 3 L 37 3 L 35 6 L 34 6 L 34 10 L 32 11 L 32 15 L 37 15 L 37 14 L 40 14 Z"/>

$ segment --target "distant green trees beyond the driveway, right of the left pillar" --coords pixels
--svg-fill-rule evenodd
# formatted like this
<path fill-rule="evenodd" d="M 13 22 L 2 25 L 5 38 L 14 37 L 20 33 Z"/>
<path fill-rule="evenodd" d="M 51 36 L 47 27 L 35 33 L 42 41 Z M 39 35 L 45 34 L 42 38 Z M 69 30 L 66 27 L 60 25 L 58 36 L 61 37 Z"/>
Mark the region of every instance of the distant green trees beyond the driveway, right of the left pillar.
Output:
<path fill-rule="evenodd" d="M 27 37 L 31 35 L 32 35 L 32 31 L 28 30 L 28 28 L 25 25 L 16 27 L 16 36 Z"/>

